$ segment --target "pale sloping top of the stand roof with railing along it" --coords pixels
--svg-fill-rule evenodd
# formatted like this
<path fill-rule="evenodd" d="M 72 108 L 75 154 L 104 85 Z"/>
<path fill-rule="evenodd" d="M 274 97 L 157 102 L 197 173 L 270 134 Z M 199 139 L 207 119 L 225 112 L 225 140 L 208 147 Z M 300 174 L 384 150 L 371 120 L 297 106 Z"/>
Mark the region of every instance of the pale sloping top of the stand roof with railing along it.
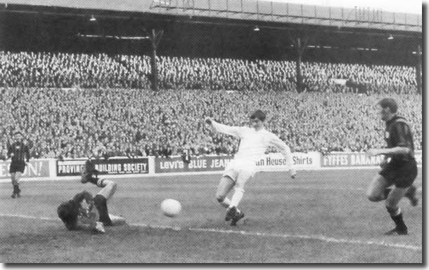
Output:
<path fill-rule="evenodd" d="M 422 16 L 257 0 L 0 0 L 3 4 L 422 32 Z"/>

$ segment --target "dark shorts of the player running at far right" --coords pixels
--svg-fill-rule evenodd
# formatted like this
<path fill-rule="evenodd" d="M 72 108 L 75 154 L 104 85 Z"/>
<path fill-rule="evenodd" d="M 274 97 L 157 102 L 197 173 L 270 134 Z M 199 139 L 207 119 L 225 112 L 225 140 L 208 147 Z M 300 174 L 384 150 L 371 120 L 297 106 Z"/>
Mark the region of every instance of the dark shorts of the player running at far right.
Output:
<path fill-rule="evenodd" d="M 411 161 L 390 162 L 379 173 L 388 180 L 390 184 L 395 184 L 395 187 L 406 188 L 414 183 L 417 177 L 417 163 L 413 159 Z"/>

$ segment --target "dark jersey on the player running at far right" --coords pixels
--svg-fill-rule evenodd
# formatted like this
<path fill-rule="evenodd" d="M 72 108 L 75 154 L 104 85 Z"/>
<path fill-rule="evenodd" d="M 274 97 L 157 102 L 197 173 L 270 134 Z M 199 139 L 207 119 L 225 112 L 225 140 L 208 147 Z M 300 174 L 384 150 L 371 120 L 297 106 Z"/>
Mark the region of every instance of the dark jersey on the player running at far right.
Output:
<path fill-rule="evenodd" d="M 411 149 L 411 154 L 392 156 L 392 161 L 409 161 L 414 159 L 413 134 L 403 117 L 395 116 L 386 122 L 385 141 L 388 144 L 388 148 L 406 147 Z"/>

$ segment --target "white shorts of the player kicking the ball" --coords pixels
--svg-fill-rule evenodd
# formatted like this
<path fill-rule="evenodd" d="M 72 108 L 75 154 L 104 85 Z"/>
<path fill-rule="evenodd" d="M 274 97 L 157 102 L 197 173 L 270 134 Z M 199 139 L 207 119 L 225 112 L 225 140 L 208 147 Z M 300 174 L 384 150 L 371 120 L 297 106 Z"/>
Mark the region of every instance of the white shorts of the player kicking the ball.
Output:
<path fill-rule="evenodd" d="M 245 182 L 252 178 L 255 173 L 255 162 L 233 159 L 228 166 L 226 166 L 223 176 L 231 178 L 238 186 L 243 187 Z"/>

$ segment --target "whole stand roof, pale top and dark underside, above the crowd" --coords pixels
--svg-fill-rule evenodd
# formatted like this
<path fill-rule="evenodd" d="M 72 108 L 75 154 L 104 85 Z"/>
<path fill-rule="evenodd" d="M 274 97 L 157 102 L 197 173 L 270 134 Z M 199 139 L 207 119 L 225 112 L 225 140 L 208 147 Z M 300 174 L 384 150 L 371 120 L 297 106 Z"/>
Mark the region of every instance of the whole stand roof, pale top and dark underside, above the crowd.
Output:
<path fill-rule="evenodd" d="M 172 1 L 193 3 L 192 0 Z M 202 3 L 202 0 L 194 1 Z M 204 1 L 209 3 L 209 0 Z M 217 3 L 222 1 L 241 0 L 219 0 Z M 305 55 L 309 60 L 323 60 L 325 57 L 329 62 L 335 61 L 331 57 L 348 59 L 344 58 L 348 55 L 350 60 L 344 61 L 373 60 L 390 65 L 414 65 L 418 46 L 422 44 L 422 32 L 412 31 L 412 27 L 378 29 L 357 22 L 340 27 L 334 21 L 331 25 L 312 25 L 315 18 L 282 22 L 262 15 L 262 7 L 261 19 L 257 20 L 255 16 L 258 15 L 245 15 L 241 11 L 222 13 L 169 8 L 166 14 L 158 11 L 165 7 L 155 7 L 156 3 L 151 0 L 8 0 L 7 5 L 2 4 L 5 2 L 0 0 L 0 47 L 6 50 L 97 50 L 147 54 L 150 51 L 148 42 L 104 38 L 143 37 L 148 35 L 148 30 L 162 29 L 164 35 L 158 48 L 161 55 L 285 59 L 294 54 L 293 39 L 302 37 L 308 39 Z M 194 15 L 184 15 L 184 12 Z M 96 22 L 89 20 L 93 16 Z M 255 32 L 256 27 L 260 31 Z M 80 34 L 102 38 L 84 41 Z M 388 39 L 389 36 L 394 39 Z"/>

